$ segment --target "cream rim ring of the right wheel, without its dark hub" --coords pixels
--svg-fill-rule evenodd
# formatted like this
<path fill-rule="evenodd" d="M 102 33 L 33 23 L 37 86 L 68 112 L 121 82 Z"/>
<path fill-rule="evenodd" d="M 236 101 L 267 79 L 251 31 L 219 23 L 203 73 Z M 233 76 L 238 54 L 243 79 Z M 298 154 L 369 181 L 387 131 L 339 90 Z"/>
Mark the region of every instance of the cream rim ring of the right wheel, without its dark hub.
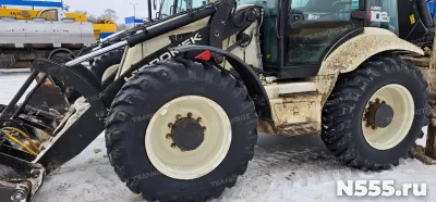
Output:
<path fill-rule="evenodd" d="M 414 118 L 414 101 L 410 91 L 401 85 L 387 85 L 377 90 L 370 99 L 376 102 L 376 99 L 385 101 L 393 110 L 391 123 L 385 128 L 367 127 L 362 116 L 362 130 L 366 141 L 375 149 L 388 150 L 399 144 L 409 134 Z M 366 108 L 370 108 L 370 101 Z"/>

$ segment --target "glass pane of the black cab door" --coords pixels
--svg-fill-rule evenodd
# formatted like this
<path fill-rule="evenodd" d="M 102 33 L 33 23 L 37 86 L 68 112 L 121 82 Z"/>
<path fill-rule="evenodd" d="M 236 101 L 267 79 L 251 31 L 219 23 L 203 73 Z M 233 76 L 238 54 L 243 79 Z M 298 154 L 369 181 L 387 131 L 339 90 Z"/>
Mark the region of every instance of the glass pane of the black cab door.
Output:
<path fill-rule="evenodd" d="M 303 26 L 288 28 L 289 66 L 319 63 L 338 38 L 354 29 L 352 0 L 292 0 L 289 12 L 302 11 Z"/>

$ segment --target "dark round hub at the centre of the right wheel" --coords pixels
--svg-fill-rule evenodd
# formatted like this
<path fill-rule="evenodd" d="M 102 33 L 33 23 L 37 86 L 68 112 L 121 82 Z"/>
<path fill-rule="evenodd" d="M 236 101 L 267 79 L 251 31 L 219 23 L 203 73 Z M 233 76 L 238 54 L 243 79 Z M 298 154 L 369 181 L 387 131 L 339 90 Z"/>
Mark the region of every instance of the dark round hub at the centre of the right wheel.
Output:
<path fill-rule="evenodd" d="M 365 117 L 368 126 L 386 128 L 392 123 L 393 109 L 385 101 L 380 102 L 379 99 L 376 99 L 376 102 L 370 104 Z"/>

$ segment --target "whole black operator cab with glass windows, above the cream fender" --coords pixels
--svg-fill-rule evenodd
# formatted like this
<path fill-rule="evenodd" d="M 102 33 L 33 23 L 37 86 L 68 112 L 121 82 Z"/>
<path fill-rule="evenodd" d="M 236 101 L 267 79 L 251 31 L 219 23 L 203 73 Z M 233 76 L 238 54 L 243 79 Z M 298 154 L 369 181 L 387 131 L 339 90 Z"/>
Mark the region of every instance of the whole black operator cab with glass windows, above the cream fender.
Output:
<path fill-rule="evenodd" d="M 265 9 L 264 70 L 279 78 L 315 76 L 323 60 L 364 27 L 390 30 L 413 41 L 429 34 L 426 0 L 238 0 Z"/>

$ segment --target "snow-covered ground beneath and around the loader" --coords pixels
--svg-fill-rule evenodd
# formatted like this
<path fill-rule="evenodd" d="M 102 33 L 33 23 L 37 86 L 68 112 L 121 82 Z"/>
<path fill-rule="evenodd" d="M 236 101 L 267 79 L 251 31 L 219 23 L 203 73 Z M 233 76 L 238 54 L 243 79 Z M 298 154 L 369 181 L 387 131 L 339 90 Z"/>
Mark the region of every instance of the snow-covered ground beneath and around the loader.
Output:
<path fill-rule="evenodd" d="M 0 74 L 0 103 L 8 103 L 27 74 Z M 425 137 L 419 140 L 425 143 Z M 73 146 L 71 146 L 73 147 Z M 378 179 L 427 184 L 427 197 L 337 197 L 336 181 Z M 365 173 L 341 166 L 318 136 L 261 135 L 255 157 L 244 176 L 214 202 L 320 202 L 320 201 L 436 202 L 436 166 L 415 160 L 401 161 L 392 171 Z M 106 155 L 101 135 L 84 152 L 46 178 L 34 202 L 137 202 L 117 177 Z"/>

